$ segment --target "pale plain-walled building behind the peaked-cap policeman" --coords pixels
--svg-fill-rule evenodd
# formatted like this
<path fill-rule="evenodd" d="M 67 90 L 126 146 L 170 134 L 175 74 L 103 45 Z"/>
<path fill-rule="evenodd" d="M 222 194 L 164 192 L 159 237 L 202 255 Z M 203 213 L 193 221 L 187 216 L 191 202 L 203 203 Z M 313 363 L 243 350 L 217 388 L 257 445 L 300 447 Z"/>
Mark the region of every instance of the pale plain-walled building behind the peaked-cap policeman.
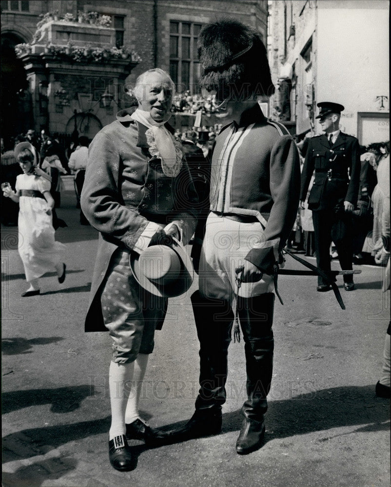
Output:
<path fill-rule="evenodd" d="M 389 2 L 269 2 L 269 55 L 276 82 L 280 58 L 293 67 L 291 123 L 320 133 L 316 104 L 345 106 L 341 130 L 362 145 L 389 140 Z M 276 105 L 271 100 L 271 108 Z"/>

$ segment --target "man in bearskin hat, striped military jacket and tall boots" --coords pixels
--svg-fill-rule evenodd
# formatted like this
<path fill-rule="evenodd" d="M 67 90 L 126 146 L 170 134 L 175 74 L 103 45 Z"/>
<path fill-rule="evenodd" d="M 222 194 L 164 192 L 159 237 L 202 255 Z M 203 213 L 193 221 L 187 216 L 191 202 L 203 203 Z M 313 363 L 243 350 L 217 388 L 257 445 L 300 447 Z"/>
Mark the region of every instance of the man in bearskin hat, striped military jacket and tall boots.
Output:
<path fill-rule="evenodd" d="M 194 415 L 176 435 L 187 439 L 221 430 L 236 297 L 248 396 L 236 451 L 245 454 L 261 446 L 265 431 L 273 369 L 274 275 L 297 213 L 299 156 L 287 129 L 265 118 L 256 102 L 257 96 L 274 92 L 259 35 L 236 20 L 216 21 L 201 30 L 198 55 L 200 84 L 216 93 L 225 125 L 212 154 L 210 213 L 199 290 L 192 296 L 200 389 Z"/>

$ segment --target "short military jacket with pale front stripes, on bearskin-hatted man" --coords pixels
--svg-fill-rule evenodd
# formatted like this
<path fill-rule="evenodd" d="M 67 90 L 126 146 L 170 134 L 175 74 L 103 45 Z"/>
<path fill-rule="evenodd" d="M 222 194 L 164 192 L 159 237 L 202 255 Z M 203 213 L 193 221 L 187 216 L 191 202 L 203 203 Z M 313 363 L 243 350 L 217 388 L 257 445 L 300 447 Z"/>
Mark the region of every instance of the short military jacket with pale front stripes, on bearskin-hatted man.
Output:
<path fill-rule="evenodd" d="M 265 273 L 284 247 L 297 214 L 299 155 L 294 140 L 258 104 L 218 134 L 212 155 L 210 210 L 254 217 L 264 227 L 260 242 L 246 255 Z"/>

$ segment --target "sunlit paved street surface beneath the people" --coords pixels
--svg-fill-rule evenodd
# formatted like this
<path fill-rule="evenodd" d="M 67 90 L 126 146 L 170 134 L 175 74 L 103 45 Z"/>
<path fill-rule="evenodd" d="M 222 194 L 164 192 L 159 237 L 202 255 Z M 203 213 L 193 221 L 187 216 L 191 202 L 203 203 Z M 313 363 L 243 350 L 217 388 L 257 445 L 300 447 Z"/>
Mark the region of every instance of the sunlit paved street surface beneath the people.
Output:
<path fill-rule="evenodd" d="M 1 228 L 3 486 L 390 486 L 390 407 L 374 395 L 390 299 L 381 291 L 383 269 L 375 266 L 356 266 L 362 273 L 354 292 L 344 291 L 339 278 L 346 311 L 332 292 L 316 292 L 315 277 L 280 278 L 284 306 L 276 301 L 274 381 L 261 450 L 235 452 L 245 397 L 241 341 L 230 346 L 221 434 L 155 449 L 133 441 L 135 469 L 111 468 L 110 340 L 83 331 L 98 235 L 78 224 L 70 183 L 58 210 L 68 227 L 56 232 L 67 247 L 63 284 L 47 274 L 41 296 L 21 298 L 17 228 Z M 291 257 L 286 267 L 301 268 Z M 140 401 L 153 427 L 172 429 L 193 413 L 196 286 L 170 301 L 156 332 Z"/>

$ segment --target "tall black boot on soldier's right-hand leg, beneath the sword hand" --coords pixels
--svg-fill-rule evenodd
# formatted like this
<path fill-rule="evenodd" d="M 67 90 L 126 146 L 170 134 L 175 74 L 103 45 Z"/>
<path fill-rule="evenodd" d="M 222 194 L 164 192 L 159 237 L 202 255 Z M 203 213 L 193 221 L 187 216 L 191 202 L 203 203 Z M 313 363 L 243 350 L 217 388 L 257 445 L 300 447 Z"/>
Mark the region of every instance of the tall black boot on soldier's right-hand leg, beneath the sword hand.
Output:
<path fill-rule="evenodd" d="M 273 373 L 273 312 L 274 294 L 237 300 L 238 316 L 245 342 L 247 372 L 247 401 L 243 404 L 242 428 L 236 451 L 250 453 L 261 446 L 265 433 L 264 414 L 268 409 Z"/>

